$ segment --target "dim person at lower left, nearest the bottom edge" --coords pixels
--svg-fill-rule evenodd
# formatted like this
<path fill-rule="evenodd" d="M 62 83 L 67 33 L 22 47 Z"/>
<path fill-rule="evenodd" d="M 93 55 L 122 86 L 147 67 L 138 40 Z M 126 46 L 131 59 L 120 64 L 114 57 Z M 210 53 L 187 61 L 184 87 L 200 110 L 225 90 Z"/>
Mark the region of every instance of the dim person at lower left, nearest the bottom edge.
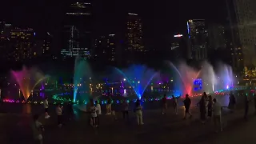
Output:
<path fill-rule="evenodd" d="M 44 131 L 44 128 L 42 126 L 42 123 L 38 122 L 38 118 L 38 114 L 35 114 L 33 117 L 34 121 L 31 124 L 31 127 L 34 134 L 34 139 L 42 144 L 42 131 Z"/>

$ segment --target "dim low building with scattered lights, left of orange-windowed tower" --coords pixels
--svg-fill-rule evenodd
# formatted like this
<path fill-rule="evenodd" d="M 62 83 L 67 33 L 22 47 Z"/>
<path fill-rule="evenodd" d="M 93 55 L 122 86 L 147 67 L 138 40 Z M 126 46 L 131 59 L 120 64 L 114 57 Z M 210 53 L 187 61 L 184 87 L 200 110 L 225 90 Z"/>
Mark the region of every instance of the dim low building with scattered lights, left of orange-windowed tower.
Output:
<path fill-rule="evenodd" d="M 115 34 L 94 39 L 94 59 L 114 62 L 116 60 Z"/>

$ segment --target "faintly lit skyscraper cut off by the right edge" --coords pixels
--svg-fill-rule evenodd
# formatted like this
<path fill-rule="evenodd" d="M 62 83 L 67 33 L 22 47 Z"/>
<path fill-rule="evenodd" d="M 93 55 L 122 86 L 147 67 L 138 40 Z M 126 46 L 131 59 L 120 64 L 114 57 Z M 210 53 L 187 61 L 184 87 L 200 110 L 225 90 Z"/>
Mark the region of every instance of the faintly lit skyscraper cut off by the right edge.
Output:
<path fill-rule="evenodd" d="M 240 55 L 239 62 L 244 66 L 256 66 L 256 1 L 255 0 L 226 0 L 229 12 L 235 12 L 236 17 L 231 21 L 231 25 L 238 26 L 239 38 L 242 47 L 241 51 L 234 51 Z M 232 11 L 233 10 L 233 11 Z M 237 22 L 237 23 L 235 23 Z"/>

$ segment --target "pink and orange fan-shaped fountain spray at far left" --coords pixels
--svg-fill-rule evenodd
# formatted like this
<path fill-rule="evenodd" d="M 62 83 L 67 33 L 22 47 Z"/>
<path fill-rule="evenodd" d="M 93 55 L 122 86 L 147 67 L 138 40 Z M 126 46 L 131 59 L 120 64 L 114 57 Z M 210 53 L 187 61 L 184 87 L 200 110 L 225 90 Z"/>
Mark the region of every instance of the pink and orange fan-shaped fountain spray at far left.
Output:
<path fill-rule="evenodd" d="M 26 66 L 23 66 L 22 70 L 19 71 L 12 70 L 11 74 L 14 76 L 16 82 L 18 82 L 18 86 L 22 90 L 25 100 L 30 97 L 30 94 L 39 82 L 48 78 L 48 76 L 43 75 L 39 70 L 27 69 Z"/>

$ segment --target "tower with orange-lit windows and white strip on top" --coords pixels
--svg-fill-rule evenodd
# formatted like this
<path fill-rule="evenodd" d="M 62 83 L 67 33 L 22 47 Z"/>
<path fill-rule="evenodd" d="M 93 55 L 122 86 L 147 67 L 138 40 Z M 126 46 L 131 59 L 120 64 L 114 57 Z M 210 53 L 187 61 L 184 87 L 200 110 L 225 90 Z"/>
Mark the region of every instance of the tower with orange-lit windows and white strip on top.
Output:
<path fill-rule="evenodd" d="M 128 13 L 126 26 L 126 51 L 145 52 L 142 44 L 142 21 L 138 14 Z"/>

